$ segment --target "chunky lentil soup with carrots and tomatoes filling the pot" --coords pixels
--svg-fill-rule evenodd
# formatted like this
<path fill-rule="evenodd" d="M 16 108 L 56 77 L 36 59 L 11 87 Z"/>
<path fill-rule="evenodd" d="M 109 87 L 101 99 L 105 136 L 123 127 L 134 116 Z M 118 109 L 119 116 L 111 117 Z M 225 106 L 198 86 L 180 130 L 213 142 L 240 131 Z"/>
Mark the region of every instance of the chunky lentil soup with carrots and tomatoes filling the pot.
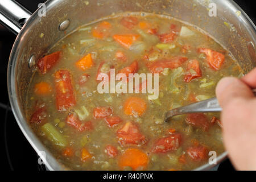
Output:
<path fill-rule="evenodd" d="M 100 94 L 97 77 L 159 74 L 159 96 Z M 42 59 L 27 93 L 32 130 L 76 170 L 190 170 L 224 152 L 219 114 L 164 113 L 215 95 L 234 59 L 198 28 L 155 14 L 117 15 L 80 27 Z M 130 78 L 129 78 L 130 79 Z"/>

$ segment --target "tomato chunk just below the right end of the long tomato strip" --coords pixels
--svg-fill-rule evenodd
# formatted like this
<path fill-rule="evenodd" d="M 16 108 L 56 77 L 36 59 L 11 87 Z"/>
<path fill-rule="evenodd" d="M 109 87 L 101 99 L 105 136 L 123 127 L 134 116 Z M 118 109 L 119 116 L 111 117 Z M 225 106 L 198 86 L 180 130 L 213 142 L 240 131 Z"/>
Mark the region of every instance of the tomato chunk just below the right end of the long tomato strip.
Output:
<path fill-rule="evenodd" d="M 199 61 L 190 60 L 187 65 L 187 72 L 185 73 L 184 81 L 190 82 L 195 78 L 200 78 L 202 76 L 202 72 L 199 66 Z"/>

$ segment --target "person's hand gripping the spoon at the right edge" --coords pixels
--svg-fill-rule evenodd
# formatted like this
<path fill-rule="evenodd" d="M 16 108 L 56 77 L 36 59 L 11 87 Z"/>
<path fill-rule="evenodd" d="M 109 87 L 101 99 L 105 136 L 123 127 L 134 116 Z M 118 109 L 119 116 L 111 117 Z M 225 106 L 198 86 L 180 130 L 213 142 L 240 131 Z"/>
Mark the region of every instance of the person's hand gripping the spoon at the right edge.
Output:
<path fill-rule="evenodd" d="M 238 79 L 223 78 L 216 95 L 222 107 L 225 148 L 238 170 L 256 170 L 256 69 Z"/>

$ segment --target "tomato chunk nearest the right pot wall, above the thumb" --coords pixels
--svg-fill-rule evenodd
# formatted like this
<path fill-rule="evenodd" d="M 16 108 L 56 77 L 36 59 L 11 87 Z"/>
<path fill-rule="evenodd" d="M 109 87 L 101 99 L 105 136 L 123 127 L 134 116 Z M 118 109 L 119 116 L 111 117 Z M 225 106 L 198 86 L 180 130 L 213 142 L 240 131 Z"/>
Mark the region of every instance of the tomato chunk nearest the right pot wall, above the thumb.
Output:
<path fill-rule="evenodd" d="M 217 71 L 225 61 L 225 56 L 222 53 L 213 51 L 212 49 L 199 48 L 198 51 L 207 55 L 208 64 Z"/>

